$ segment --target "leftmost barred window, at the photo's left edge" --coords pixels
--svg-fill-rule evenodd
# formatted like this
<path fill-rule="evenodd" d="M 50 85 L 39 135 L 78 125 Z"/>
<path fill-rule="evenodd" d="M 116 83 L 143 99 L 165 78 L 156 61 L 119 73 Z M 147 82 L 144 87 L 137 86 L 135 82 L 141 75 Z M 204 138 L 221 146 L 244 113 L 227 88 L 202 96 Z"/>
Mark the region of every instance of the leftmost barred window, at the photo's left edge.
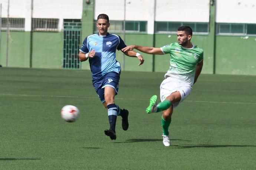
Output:
<path fill-rule="evenodd" d="M 25 18 L 9 18 L 9 30 L 24 31 Z M 1 18 L 1 30 L 7 30 L 7 18 Z"/>

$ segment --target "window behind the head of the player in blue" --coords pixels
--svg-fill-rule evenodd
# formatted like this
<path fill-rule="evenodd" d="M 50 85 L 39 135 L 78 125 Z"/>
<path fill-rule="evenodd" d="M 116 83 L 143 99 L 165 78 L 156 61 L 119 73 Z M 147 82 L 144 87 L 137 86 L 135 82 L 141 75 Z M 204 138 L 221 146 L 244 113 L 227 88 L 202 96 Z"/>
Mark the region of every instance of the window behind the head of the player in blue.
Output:
<path fill-rule="evenodd" d="M 95 20 L 95 22 L 97 22 Z M 109 33 L 146 33 L 147 32 L 147 21 L 111 21 L 108 28 Z M 97 28 L 95 27 L 95 33 L 98 33 Z"/>

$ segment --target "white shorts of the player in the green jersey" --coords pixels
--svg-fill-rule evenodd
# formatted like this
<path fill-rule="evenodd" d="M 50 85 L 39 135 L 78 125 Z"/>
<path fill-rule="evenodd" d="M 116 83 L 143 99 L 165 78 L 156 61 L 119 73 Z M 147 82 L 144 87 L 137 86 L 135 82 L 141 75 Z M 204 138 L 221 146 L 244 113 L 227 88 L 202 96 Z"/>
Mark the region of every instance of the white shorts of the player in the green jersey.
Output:
<path fill-rule="evenodd" d="M 161 102 L 165 100 L 173 92 L 180 92 L 181 100 L 179 102 L 173 103 L 173 108 L 177 107 L 187 96 L 190 94 L 192 87 L 187 84 L 178 81 L 175 78 L 167 77 L 160 85 L 160 98 Z"/>

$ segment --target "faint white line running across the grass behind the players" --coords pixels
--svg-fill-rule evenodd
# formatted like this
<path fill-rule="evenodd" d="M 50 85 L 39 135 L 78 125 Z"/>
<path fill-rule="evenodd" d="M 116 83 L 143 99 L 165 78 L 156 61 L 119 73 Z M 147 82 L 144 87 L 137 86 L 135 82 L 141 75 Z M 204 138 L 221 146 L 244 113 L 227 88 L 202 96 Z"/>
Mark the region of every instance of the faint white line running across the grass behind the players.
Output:
<path fill-rule="evenodd" d="M 98 97 L 85 97 L 85 96 L 29 95 L 29 94 L 5 94 L 5 93 L 0 93 L 0 95 L 2 95 L 2 96 L 25 96 L 25 97 L 28 96 L 28 97 L 98 99 Z M 133 98 L 116 98 L 116 99 L 120 99 L 120 100 L 147 100 L 148 101 L 148 99 L 133 99 Z M 185 100 L 184 102 L 256 105 L 256 103 L 248 103 L 248 102 L 216 102 L 216 101 L 190 101 L 190 100 Z"/>

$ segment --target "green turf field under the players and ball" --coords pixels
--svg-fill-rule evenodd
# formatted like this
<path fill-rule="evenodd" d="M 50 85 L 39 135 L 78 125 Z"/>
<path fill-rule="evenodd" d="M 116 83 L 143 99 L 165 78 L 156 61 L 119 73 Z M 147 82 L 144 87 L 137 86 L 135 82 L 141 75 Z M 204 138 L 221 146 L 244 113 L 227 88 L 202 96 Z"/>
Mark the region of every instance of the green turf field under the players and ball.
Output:
<path fill-rule="evenodd" d="M 255 170 L 256 76 L 200 75 L 174 110 L 172 146 L 162 143 L 161 113 L 145 113 L 164 73 L 122 72 L 116 104 L 129 110 L 129 129 L 116 123 L 85 70 L 0 68 L 0 169 Z M 75 105 L 77 122 L 60 117 Z"/>

